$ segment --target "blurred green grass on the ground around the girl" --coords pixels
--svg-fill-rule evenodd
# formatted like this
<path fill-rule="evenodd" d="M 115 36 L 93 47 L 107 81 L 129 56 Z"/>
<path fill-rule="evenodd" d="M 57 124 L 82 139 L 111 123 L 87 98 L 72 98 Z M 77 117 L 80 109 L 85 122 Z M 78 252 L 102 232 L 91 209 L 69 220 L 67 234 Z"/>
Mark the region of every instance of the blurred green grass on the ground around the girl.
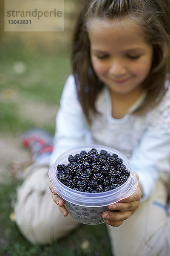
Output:
<path fill-rule="evenodd" d="M 70 74 L 67 54 L 59 51 L 31 51 L 20 42 L 14 41 L 0 47 L 0 135 L 4 132 L 16 136 L 34 126 L 27 117 L 20 118 L 20 102 L 13 100 L 17 92 L 24 100 L 59 105 L 65 79 Z M 23 64 L 24 72 L 16 72 L 17 62 Z M 46 126 L 54 132 L 54 126 Z M 82 225 L 66 238 L 48 246 L 31 245 L 20 234 L 17 226 L 9 219 L 11 202 L 15 201 L 16 189 L 20 184 L 14 177 L 0 186 L 0 256 L 111 256 L 111 247 L 105 224 Z M 88 246 L 83 247 L 83 242 Z"/>

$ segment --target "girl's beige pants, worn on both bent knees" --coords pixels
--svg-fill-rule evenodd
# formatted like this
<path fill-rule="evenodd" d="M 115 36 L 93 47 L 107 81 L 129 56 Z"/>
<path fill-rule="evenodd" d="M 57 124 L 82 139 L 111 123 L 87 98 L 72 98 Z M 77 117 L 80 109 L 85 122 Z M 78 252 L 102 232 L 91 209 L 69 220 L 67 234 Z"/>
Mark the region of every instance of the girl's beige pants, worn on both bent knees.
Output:
<path fill-rule="evenodd" d="M 14 211 L 21 233 L 33 244 L 49 244 L 80 224 L 63 217 L 48 188 L 48 167 L 28 168 L 18 189 Z M 166 207 L 167 177 L 160 177 L 153 195 L 120 227 L 107 225 L 115 256 L 170 256 L 170 216 Z"/>

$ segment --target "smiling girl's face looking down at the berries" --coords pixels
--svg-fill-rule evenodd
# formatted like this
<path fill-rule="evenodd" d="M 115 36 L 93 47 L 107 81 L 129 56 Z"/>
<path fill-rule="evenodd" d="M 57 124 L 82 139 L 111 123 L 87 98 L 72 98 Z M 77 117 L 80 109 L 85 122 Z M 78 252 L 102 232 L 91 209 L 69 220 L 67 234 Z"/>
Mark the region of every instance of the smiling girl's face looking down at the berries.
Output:
<path fill-rule="evenodd" d="M 153 58 L 141 28 L 126 18 L 94 19 L 88 22 L 88 35 L 94 71 L 111 92 L 141 91 Z"/>

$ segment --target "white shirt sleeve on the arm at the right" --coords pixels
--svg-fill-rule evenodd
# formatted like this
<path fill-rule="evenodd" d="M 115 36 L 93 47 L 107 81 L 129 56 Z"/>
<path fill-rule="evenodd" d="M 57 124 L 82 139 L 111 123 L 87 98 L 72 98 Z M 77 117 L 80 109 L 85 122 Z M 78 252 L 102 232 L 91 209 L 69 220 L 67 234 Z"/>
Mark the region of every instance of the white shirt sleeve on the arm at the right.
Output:
<path fill-rule="evenodd" d="M 170 172 L 170 90 L 147 114 L 146 122 L 147 130 L 130 158 L 142 184 L 142 200 L 153 192 L 160 173 Z"/>

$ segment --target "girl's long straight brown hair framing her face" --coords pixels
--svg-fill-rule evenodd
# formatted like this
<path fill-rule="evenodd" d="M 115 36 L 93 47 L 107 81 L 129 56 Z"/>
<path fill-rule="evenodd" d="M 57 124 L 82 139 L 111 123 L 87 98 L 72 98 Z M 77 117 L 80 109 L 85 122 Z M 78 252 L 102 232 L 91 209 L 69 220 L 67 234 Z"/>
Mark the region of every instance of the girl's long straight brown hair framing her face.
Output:
<path fill-rule="evenodd" d="M 153 63 L 143 87 L 147 91 L 139 108 L 143 113 L 160 102 L 166 92 L 165 81 L 170 73 L 170 0 L 85 0 L 78 17 L 72 49 L 72 72 L 79 101 L 88 122 L 90 113 L 98 113 L 95 101 L 103 87 L 91 64 L 88 20 L 129 17 L 139 23 L 146 42 L 153 46 Z"/>

